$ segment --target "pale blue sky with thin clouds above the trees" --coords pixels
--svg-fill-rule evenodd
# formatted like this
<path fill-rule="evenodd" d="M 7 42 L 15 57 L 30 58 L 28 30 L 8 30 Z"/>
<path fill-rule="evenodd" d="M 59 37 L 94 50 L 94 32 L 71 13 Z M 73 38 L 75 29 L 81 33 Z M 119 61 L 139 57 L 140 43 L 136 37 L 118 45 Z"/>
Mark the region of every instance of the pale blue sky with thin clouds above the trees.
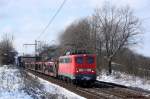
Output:
<path fill-rule="evenodd" d="M 150 17 L 149 0 L 67 0 L 40 40 L 58 41 L 60 31 L 74 20 L 92 15 L 94 9 L 101 7 L 104 1 L 116 6 L 129 5 L 141 19 Z M 33 48 L 23 48 L 22 44 L 34 43 L 62 2 L 63 0 L 0 0 L 0 34 L 13 34 L 19 52 L 33 52 Z M 150 56 L 150 19 L 143 21 L 143 27 L 143 42 L 134 50 Z"/>

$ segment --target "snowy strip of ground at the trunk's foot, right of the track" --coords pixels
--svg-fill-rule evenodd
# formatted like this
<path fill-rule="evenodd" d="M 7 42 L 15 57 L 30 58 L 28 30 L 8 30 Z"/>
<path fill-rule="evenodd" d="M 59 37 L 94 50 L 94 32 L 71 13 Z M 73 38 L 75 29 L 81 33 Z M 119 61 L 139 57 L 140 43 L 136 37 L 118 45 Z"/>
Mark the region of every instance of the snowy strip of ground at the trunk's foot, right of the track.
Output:
<path fill-rule="evenodd" d="M 150 91 L 150 80 L 131 76 L 129 74 L 113 71 L 112 75 L 106 75 L 105 70 L 97 77 L 99 81 L 111 82 L 120 85 L 142 88 Z"/>

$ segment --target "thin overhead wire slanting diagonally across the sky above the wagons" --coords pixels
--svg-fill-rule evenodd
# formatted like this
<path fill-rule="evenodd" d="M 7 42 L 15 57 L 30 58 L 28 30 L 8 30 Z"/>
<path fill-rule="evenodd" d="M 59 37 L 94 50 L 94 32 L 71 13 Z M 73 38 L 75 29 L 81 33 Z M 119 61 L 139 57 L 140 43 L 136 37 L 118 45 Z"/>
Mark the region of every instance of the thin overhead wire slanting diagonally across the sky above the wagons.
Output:
<path fill-rule="evenodd" d="M 64 4 L 66 3 L 67 0 L 64 0 L 62 2 L 62 4 L 60 5 L 60 7 L 58 8 L 58 10 L 56 11 L 56 13 L 52 16 L 52 18 L 50 19 L 50 21 L 48 22 L 48 24 L 45 26 L 45 28 L 42 30 L 42 32 L 40 33 L 40 35 L 36 38 L 39 39 L 47 30 L 47 28 L 52 24 L 53 20 L 55 19 L 55 17 L 58 15 L 58 13 L 60 12 L 60 10 L 63 8 Z"/>

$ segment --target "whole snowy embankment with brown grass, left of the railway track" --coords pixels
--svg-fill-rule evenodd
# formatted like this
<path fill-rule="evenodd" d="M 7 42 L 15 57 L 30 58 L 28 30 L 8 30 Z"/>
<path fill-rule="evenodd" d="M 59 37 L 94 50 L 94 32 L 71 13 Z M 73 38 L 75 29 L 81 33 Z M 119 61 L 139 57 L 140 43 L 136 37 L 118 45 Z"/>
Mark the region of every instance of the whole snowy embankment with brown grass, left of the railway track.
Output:
<path fill-rule="evenodd" d="M 65 88 L 26 74 L 13 66 L 0 67 L 0 99 L 85 99 Z"/>

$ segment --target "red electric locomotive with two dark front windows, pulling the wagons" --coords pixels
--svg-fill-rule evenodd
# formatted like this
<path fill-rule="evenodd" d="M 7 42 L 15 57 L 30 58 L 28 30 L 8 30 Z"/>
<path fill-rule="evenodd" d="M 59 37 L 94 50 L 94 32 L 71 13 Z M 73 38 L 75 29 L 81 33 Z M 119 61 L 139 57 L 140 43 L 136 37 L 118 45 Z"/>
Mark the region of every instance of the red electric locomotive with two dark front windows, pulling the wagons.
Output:
<path fill-rule="evenodd" d="M 96 55 L 73 52 L 59 58 L 58 76 L 77 83 L 96 80 Z"/>

